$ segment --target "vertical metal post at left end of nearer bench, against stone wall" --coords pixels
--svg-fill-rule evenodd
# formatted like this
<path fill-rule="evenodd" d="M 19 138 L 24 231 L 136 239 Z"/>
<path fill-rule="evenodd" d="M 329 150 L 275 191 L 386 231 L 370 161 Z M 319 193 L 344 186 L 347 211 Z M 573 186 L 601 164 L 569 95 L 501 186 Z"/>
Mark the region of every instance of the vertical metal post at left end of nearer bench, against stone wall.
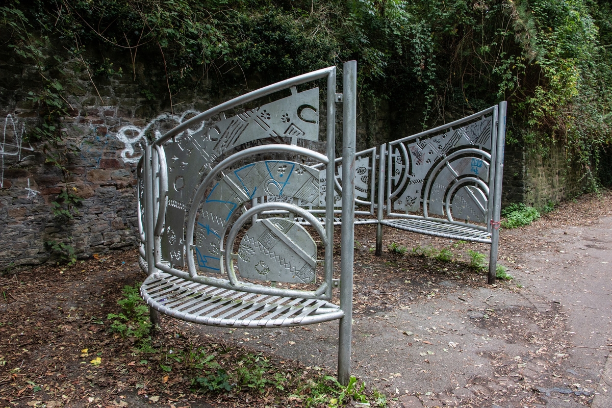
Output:
<path fill-rule="evenodd" d="M 155 196 L 154 196 L 154 173 L 152 160 L 152 147 L 144 149 L 144 251 L 147 261 L 147 273 L 155 273 Z M 149 317 L 153 327 L 160 327 L 159 311 L 149 307 Z"/>

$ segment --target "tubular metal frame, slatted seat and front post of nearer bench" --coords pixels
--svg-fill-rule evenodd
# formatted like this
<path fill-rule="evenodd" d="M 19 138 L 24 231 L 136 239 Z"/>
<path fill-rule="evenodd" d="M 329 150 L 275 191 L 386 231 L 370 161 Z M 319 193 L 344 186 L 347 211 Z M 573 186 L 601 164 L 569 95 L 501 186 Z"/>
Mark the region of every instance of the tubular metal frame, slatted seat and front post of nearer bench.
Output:
<path fill-rule="evenodd" d="M 344 66 L 343 94 L 336 94 L 335 73 L 336 68 L 329 67 L 249 92 L 192 117 L 192 119 L 183 122 L 161 136 L 151 146 L 147 146 L 145 154 L 137 166 L 138 226 L 141 240 L 139 247 L 141 260 L 139 264 L 141 269 L 149 275 L 141 286 L 141 295 L 147 304 L 154 310 L 185 321 L 228 327 L 290 327 L 293 325 L 315 324 L 340 319 L 338 379 L 342 384 L 346 385 L 350 377 L 353 303 L 353 285 L 350 284 L 353 276 L 353 239 L 349 239 L 349 237 L 353 236 L 353 223 L 351 220 L 354 218 L 354 198 L 352 193 L 354 190 L 354 153 L 356 146 L 356 62 L 347 62 Z M 244 103 L 252 102 L 258 98 L 285 89 L 291 89 L 292 95 L 295 95 L 297 92 L 296 86 L 320 78 L 327 79 L 326 155 L 296 146 L 299 136 L 292 136 L 292 144 L 290 145 L 267 144 L 265 146 L 250 147 L 220 160 L 215 166 L 209 168 L 207 173 L 201 173 L 203 180 L 195 188 L 195 193 L 190 198 L 190 204 L 187 207 L 185 217 L 187 228 L 185 229 L 185 243 L 182 247 L 182 251 L 185 254 L 184 258 L 187 261 L 187 270 L 181 270 L 173 265 L 171 259 L 165 259 L 162 255 L 162 235 L 168 228 L 166 214 L 170 206 L 168 198 L 169 166 L 166 163 L 166 160 L 169 159 L 166 159 L 167 153 L 164 144 L 169 141 L 176 143 L 175 138 L 177 136 L 187 135 L 184 132 L 189 128 L 200 125 L 218 114 L 223 115 L 222 119 L 225 118 L 223 112 L 228 109 L 244 105 Z M 346 161 L 345 166 L 342 168 L 342 179 L 344 182 L 340 185 L 335 174 L 334 144 L 336 126 L 335 104 L 342 101 L 344 111 L 343 153 L 345 154 Z M 300 117 L 299 109 L 298 117 Z M 317 109 L 318 107 L 314 109 L 315 113 Z M 284 119 L 283 116 L 283 122 L 285 122 Z M 308 119 L 302 120 L 309 122 Z M 244 207 L 245 212 L 233 224 L 221 224 L 223 229 L 214 231 L 215 234 L 220 234 L 220 272 L 226 273 L 227 276 L 222 278 L 222 276 L 202 275 L 198 272 L 195 265 L 195 225 L 198 222 L 201 203 L 205 197 L 211 194 L 208 191 L 210 191 L 212 182 L 219 177 L 222 177 L 222 180 L 228 179 L 223 170 L 230 168 L 230 166 L 235 165 L 239 161 L 248 160 L 249 157 L 267 154 L 271 151 L 307 157 L 319 163 L 319 168 L 325 166 L 326 191 L 329 192 L 328 195 L 330 196 L 326 199 L 324 222 L 322 223 L 318 217 L 295 204 L 268 202 L 253 206 L 249 210 L 246 210 Z M 176 160 L 176 158 L 173 158 L 173 160 Z M 260 161 L 258 163 L 264 162 Z M 187 163 L 184 164 L 187 165 Z M 177 188 L 176 180 L 173 183 L 174 188 Z M 333 221 L 335 211 L 333 193 L 335 184 L 340 190 L 345 191 L 346 199 L 346 203 L 343 202 L 343 207 L 339 214 L 345 220 L 342 226 L 341 239 L 343 243 L 348 242 L 348 240 L 351 242 L 351 245 L 343 245 L 343 247 L 350 248 L 350 250 L 343 250 L 340 259 L 341 280 L 346 282 L 346 284 L 340 286 L 340 306 L 330 303 L 332 287 L 334 287 Z M 346 191 L 349 193 L 346 193 Z M 245 202 L 241 205 L 244 204 Z M 230 253 L 233 252 L 233 245 L 239 228 L 242 224 L 248 222 L 248 220 L 252 220 L 253 224 L 255 224 L 258 214 L 278 212 L 289 213 L 291 216 L 288 220 L 293 219 L 293 214 L 295 214 L 304 220 L 305 223 L 315 227 L 315 231 L 318 232 L 325 249 L 323 260 L 324 276 L 318 289 L 308 291 L 286 289 L 284 287 L 277 287 L 274 284 L 272 286 L 253 284 L 248 281 L 239 280 L 234 272 L 234 259 L 236 255 Z M 347 220 L 349 222 L 346 222 Z"/>

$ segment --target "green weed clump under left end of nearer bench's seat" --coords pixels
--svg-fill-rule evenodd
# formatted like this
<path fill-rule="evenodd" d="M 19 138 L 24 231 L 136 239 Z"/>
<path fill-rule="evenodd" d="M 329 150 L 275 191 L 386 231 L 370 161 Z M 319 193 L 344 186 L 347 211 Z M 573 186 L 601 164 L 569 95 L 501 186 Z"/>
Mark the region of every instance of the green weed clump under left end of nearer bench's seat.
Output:
<path fill-rule="evenodd" d="M 111 332 L 119 333 L 122 338 L 132 338 L 140 351 L 151 352 L 149 308 L 140 297 L 139 289 L 139 283 L 124 286 L 124 297 L 117 301 L 122 311 L 109 313 L 106 318 L 111 321 Z"/>

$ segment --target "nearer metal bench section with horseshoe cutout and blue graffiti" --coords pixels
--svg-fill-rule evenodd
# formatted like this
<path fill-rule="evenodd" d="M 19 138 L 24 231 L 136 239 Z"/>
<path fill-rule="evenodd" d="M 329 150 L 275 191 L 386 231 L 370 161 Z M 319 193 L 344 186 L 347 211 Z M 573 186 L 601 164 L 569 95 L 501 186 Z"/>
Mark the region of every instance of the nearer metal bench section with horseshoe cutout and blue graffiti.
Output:
<path fill-rule="evenodd" d="M 336 104 L 343 106 L 344 160 L 353 163 L 356 62 L 344 65 L 343 94 L 336 94 L 335 74 L 330 67 L 234 98 L 146 148 L 137 168 L 138 218 L 141 268 L 149 276 L 140 292 L 154 310 L 198 324 L 287 327 L 340 319 L 338 380 L 348 384 L 352 165 L 342 172 L 346 193 L 341 218 L 348 222 L 341 228 L 345 249 L 340 276 L 334 273 L 332 220 Z M 316 80 L 326 80 L 325 105 L 312 84 Z M 304 90 L 298 92 L 298 86 Z M 289 96 L 274 102 L 225 116 L 246 103 L 288 91 Z M 319 140 L 322 118 L 326 154 L 305 147 Z M 264 196 L 275 199 L 252 206 Z M 327 222 L 298 204 L 324 207 Z M 312 228 L 300 225 L 299 219 Z M 336 305 L 332 289 L 338 277 L 342 285 Z"/>

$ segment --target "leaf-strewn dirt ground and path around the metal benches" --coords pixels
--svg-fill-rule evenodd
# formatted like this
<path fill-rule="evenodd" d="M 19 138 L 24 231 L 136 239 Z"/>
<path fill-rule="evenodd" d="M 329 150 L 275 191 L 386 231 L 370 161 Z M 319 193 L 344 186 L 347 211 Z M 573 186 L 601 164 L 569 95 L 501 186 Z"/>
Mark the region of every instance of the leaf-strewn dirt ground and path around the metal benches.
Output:
<path fill-rule="evenodd" d="M 385 229 L 385 247 L 408 253 L 378 258 L 375 228 L 358 226 L 353 374 L 391 407 L 612 407 L 611 204 L 609 191 L 586 195 L 501 231 L 499 263 L 514 278 L 495 285 L 466 264 L 467 250 L 487 245 Z M 419 255 L 430 248 L 452 259 Z M 114 252 L 0 277 L 0 406 L 272 406 L 268 396 L 194 393 L 180 368 L 169 376 L 143 364 L 133 339 L 108 332 L 121 288 L 144 278 L 136 261 Z M 335 372 L 337 322 L 162 325 L 160 347 L 261 352 L 271 369 Z"/>

